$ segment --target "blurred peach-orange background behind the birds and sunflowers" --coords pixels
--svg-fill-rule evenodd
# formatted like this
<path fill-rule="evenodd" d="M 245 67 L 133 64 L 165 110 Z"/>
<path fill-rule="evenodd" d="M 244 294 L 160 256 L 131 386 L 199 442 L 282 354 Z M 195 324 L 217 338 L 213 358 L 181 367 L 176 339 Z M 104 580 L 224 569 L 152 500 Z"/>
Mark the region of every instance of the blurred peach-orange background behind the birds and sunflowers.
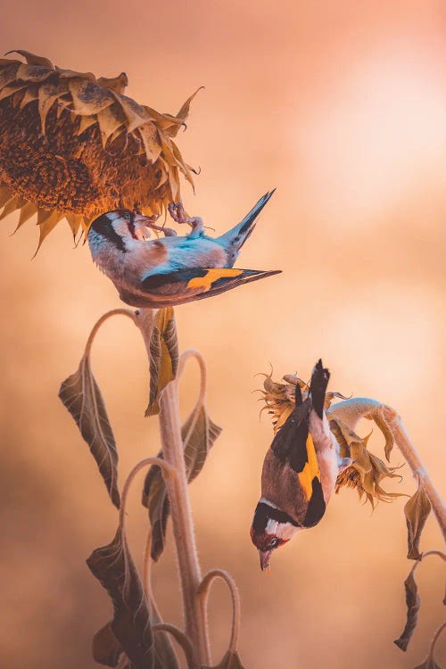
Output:
<path fill-rule="evenodd" d="M 272 435 L 252 390 L 269 361 L 277 378 L 308 378 L 322 356 L 332 389 L 392 404 L 445 493 L 445 25 L 444 4 L 414 0 L 4 4 L 4 52 L 23 48 L 97 75 L 125 70 L 129 95 L 160 111 L 206 87 L 178 145 L 202 168 L 196 195 L 183 187 L 186 208 L 217 231 L 277 186 L 239 266 L 284 273 L 177 310 L 180 346 L 207 360 L 208 406 L 224 426 L 191 496 L 203 570 L 227 569 L 241 591 L 246 669 L 406 669 L 443 619 L 442 566 L 431 558 L 418 571 L 422 607 L 408 653 L 392 644 L 410 566 L 404 499 L 372 515 L 342 491 L 317 528 L 278 552 L 269 577 L 249 527 Z M 93 667 L 91 638 L 111 605 L 85 558 L 111 540 L 117 515 L 57 392 L 95 319 L 120 301 L 87 247 L 72 248 L 66 224 L 31 261 L 37 229 L 10 238 L 15 222 L 0 230 L 2 664 Z M 119 318 L 104 326 L 93 363 L 122 482 L 159 447 L 156 419 L 144 418 L 148 370 L 136 328 Z M 196 389 L 193 369 L 185 414 Z M 376 431 L 372 440 L 382 455 Z M 413 491 L 403 472 L 389 489 Z M 141 483 L 128 519 L 137 558 Z M 432 518 L 422 547 L 441 547 Z M 169 536 L 154 576 L 163 613 L 180 624 L 174 570 Z M 217 585 L 215 660 L 229 611 Z M 445 660 L 446 639 L 437 648 Z"/>

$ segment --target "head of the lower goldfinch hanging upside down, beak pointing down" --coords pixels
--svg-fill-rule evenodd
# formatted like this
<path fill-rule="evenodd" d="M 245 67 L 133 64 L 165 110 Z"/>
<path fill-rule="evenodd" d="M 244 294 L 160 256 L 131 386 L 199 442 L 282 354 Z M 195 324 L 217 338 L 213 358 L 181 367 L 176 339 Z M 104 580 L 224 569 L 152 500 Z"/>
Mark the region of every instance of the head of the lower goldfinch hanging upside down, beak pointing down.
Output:
<path fill-rule="evenodd" d="M 262 571 L 268 570 L 273 551 L 284 546 L 300 529 L 285 511 L 268 500 L 260 500 L 252 519 L 251 540 L 259 550 Z"/>

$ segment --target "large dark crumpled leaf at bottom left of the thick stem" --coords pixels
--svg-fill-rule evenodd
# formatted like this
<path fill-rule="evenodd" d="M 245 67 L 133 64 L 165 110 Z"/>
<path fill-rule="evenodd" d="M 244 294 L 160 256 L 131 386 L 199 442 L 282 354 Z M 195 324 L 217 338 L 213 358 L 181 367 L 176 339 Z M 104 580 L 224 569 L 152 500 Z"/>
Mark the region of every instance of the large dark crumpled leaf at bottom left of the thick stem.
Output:
<path fill-rule="evenodd" d="M 110 631 L 115 639 L 136 669 L 153 669 L 153 633 L 149 607 L 125 534 L 120 527 L 110 544 L 93 551 L 87 559 L 87 565 L 113 602 L 114 615 Z M 110 649 L 109 654 L 103 647 L 104 638 L 105 648 Z M 99 651 L 103 659 L 118 660 L 118 646 L 107 645 L 111 641 L 110 633 L 103 632 L 99 641 L 96 640 L 95 651 Z"/>

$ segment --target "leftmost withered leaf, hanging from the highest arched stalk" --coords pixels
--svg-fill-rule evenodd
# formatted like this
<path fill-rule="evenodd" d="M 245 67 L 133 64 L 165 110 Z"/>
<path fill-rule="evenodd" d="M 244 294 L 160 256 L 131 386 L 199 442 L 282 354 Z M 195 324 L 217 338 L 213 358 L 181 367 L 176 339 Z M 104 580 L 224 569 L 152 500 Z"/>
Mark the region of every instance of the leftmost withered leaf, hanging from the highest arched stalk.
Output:
<path fill-rule="evenodd" d="M 70 411 L 80 434 L 90 447 L 111 501 L 120 508 L 118 451 L 103 396 L 95 382 L 88 355 L 84 355 L 81 359 L 78 370 L 63 381 L 59 397 Z"/>

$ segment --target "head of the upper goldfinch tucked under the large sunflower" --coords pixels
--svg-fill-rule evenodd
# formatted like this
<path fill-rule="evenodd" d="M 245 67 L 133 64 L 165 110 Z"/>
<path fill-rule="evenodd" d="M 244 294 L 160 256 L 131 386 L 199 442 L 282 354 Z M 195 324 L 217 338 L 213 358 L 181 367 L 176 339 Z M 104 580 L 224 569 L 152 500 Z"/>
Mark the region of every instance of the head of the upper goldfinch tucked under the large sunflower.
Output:
<path fill-rule="evenodd" d="M 95 254 L 102 250 L 103 244 L 113 247 L 114 250 L 126 252 L 127 240 L 140 241 L 138 231 L 147 225 L 148 217 L 128 209 L 108 211 L 93 221 L 88 230 L 88 244 Z"/>

